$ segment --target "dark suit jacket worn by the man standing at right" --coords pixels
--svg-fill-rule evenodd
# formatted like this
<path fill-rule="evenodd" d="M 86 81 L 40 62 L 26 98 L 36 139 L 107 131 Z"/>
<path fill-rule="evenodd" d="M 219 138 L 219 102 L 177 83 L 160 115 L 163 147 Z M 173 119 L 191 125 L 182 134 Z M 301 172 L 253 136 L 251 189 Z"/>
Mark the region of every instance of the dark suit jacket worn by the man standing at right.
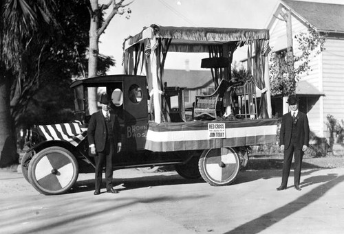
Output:
<path fill-rule="evenodd" d="M 310 141 L 310 126 L 308 125 L 308 117 L 305 113 L 297 113 L 297 124 L 294 128 L 296 130 L 296 142 L 298 147 L 302 148 L 303 145 L 307 145 Z M 292 139 L 292 115 L 287 113 L 282 117 L 281 131 L 279 132 L 279 145 L 284 145 L 287 150 Z"/>

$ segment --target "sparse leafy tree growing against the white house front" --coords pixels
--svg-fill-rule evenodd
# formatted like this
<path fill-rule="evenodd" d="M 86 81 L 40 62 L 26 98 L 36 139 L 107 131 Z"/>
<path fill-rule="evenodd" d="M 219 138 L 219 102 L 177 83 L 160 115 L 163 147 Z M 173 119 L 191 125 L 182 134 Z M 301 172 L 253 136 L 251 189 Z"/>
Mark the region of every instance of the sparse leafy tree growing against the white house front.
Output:
<path fill-rule="evenodd" d="M 287 51 L 270 52 L 270 87 L 272 95 L 288 96 L 295 93 L 296 84 L 303 73 L 310 71 L 310 56 L 318 55 L 325 49 L 325 37 L 316 32 L 312 25 L 308 24 L 308 32 L 300 32 L 294 36 L 299 45 L 301 54 L 295 56 L 293 61 L 286 60 Z M 290 62 L 294 66 L 290 66 Z M 288 68 L 293 69 L 289 70 Z"/>

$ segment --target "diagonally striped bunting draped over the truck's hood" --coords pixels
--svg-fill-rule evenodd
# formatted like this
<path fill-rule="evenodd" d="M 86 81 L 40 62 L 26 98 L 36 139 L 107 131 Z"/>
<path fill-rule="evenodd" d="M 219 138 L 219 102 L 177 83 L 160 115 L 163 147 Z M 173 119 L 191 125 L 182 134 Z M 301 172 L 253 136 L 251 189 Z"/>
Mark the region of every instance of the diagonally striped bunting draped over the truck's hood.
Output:
<path fill-rule="evenodd" d="M 80 121 L 66 124 L 40 125 L 38 129 L 47 141 L 67 141 L 74 146 L 77 146 L 87 136 L 87 128 L 83 128 Z"/>

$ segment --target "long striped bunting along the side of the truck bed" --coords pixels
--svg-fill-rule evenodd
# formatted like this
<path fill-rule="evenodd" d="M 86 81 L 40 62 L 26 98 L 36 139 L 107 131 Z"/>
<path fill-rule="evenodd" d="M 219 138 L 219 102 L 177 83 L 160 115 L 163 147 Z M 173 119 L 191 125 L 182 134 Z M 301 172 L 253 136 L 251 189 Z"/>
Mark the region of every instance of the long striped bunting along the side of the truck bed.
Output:
<path fill-rule="evenodd" d="M 226 137 L 211 139 L 208 123 L 225 123 Z M 149 124 L 144 149 L 169 152 L 261 145 L 276 143 L 276 136 L 277 119 Z"/>

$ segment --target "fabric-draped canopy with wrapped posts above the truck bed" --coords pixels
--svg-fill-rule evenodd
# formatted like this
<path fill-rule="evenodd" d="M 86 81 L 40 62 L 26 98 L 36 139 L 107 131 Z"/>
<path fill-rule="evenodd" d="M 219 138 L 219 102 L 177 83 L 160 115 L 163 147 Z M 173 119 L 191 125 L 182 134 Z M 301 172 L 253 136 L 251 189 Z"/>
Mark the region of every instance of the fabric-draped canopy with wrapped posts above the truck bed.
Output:
<path fill-rule="evenodd" d="M 259 118 L 267 118 L 271 117 L 268 39 L 268 30 L 151 25 L 125 39 L 123 69 L 128 75 L 147 75 L 149 94 L 153 97 L 153 117 L 159 124 L 164 121 L 162 93 L 168 51 L 208 53 L 209 58 L 202 59 L 201 67 L 211 69 L 216 88 L 221 80 L 231 80 L 230 65 L 234 51 L 248 45 L 248 58 L 252 58 L 248 59 L 248 72 L 262 93 Z"/>

